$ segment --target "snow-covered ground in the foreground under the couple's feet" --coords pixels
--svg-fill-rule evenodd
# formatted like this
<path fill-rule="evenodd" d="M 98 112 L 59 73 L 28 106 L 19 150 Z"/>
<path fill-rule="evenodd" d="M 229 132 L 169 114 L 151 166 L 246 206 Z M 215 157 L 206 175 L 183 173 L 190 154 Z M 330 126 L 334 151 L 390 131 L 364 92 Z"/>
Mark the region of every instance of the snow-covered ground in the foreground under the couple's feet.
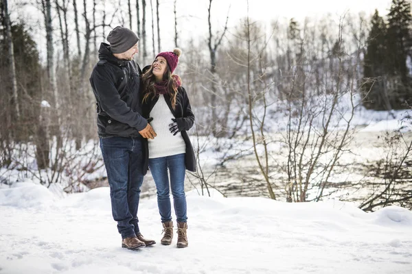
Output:
<path fill-rule="evenodd" d="M 0 189 L 0 274 L 412 273 L 412 212 L 352 203 L 282 203 L 187 193 L 189 247 L 159 244 L 156 199 L 141 231 L 158 241 L 121 248 L 108 188 L 54 195 L 38 184 Z"/>

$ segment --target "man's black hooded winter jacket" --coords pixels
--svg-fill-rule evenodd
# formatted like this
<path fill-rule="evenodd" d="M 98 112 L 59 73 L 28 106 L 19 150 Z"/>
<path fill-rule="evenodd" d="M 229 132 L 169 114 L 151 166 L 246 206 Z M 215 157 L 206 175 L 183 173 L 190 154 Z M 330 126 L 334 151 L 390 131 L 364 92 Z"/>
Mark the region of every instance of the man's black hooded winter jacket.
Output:
<path fill-rule="evenodd" d="M 106 43 L 100 45 L 99 59 L 90 77 L 99 136 L 141 138 L 139 131 L 148 123 L 141 116 L 139 66 L 135 61 L 115 58 Z"/>

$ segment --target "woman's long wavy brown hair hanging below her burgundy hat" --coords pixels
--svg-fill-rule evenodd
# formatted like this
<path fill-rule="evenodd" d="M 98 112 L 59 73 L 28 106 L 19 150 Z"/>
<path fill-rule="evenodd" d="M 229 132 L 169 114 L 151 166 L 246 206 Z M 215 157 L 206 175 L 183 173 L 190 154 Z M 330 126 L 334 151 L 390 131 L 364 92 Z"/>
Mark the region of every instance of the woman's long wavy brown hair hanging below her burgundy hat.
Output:
<path fill-rule="evenodd" d="M 143 103 L 146 103 L 151 97 L 151 99 L 154 99 L 156 97 L 156 88 L 155 88 L 155 83 L 156 83 L 156 77 L 153 74 L 153 66 L 150 66 L 150 69 L 144 73 L 144 75 L 141 77 L 143 81 Z M 168 95 L 170 96 L 170 103 L 172 103 L 172 108 L 174 109 L 176 107 L 176 96 L 178 92 L 179 86 L 181 86 L 181 78 L 179 75 L 172 74 L 170 72 L 169 66 L 166 66 L 166 71 L 163 74 L 163 81 L 166 80 L 166 89 L 168 90 Z"/>

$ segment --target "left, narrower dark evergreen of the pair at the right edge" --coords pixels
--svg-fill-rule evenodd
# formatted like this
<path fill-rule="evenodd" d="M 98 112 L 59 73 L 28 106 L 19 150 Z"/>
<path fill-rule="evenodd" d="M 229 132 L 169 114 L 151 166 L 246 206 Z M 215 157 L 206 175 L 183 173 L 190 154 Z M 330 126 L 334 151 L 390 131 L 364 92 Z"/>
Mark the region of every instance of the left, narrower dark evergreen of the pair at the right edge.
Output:
<path fill-rule="evenodd" d="M 386 33 L 383 18 L 375 10 L 371 18 L 371 30 L 367 38 L 367 49 L 363 64 L 362 93 L 366 108 L 390 110 L 391 104 L 385 90 Z"/>

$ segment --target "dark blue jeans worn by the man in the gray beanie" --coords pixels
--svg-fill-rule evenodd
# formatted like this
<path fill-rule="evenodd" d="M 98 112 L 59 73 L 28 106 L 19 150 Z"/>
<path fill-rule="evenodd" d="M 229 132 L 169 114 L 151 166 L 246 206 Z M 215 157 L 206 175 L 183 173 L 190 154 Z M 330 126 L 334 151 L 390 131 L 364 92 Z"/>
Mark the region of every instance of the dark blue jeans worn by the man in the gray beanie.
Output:
<path fill-rule="evenodd" d="M 140 187 L 143 183 L 143 144 L 139 138 L 100 138 L 106 166 L 113 219 L 122 238 L 139 234 Z"/>

